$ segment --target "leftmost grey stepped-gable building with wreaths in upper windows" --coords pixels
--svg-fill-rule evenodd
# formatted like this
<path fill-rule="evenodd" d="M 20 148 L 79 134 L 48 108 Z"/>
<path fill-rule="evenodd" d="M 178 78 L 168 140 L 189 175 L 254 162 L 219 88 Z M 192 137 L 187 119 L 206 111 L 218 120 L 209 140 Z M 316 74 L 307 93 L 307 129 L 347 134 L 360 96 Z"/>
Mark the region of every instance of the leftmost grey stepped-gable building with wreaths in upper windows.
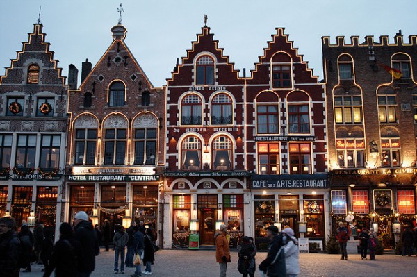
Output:
<path fill-rule="evenodd" d="M 63 212 L 67 86 L 42 28 L 34 24 L 0 78 L 0 216 L 54 230 Z"/>

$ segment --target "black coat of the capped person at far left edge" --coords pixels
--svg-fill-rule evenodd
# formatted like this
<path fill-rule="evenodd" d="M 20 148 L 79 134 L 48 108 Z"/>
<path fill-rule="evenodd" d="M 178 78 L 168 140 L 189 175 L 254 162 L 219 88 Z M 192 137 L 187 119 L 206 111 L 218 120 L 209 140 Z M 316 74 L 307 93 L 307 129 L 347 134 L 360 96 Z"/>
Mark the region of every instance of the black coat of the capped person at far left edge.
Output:
<path fill-rule="evenodd" d="M 0 277 L 19 276 L 19 244 L 13 229 L 0 235 Z"/>

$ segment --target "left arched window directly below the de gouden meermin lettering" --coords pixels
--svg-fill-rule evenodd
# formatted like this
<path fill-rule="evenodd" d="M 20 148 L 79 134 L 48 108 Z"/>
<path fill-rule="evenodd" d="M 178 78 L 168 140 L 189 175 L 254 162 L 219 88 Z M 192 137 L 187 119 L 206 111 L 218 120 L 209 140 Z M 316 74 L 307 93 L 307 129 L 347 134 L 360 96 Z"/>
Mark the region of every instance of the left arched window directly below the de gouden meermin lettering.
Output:
<path fill-rule="evenodd" d="M 181 169 L 199 170 L 202 168 L 202 142 L 198 137 L 188 136 L 181 144 Z"/>

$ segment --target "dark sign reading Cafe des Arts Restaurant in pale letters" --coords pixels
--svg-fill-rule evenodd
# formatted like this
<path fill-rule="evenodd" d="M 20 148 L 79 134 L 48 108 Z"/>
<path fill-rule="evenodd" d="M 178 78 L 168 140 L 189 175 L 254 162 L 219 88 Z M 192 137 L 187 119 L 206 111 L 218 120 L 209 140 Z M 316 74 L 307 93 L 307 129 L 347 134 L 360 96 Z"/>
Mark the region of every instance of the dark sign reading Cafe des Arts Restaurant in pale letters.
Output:
<path fill-rule="evenodd" d="M 327 174 L 254 175 L 252 189 L 326 189 Z"/>

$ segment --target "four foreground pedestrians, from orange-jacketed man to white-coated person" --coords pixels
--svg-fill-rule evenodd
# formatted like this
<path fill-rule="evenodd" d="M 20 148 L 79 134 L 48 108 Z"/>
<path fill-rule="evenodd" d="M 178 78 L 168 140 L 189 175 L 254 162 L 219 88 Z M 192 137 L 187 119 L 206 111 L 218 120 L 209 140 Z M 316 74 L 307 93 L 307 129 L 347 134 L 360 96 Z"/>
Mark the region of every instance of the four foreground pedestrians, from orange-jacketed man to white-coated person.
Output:
<path fill-rule="evenodd" d="M 300 274 L 298 262 L 298 241 L 294 230 L 284 226 L 281 233 L 277 226 L 270 225 L 265 228 L 266 237 L 270 240 L 268 254 L 260 264 L 262 276 L 269 277 L 296 277 Z M 227 264 L 231 262 L 229 242 L 227 241 L 227 226 L 221 224 L 215 233 L 215 258 L 220 266 L 220 277 L 225 277 Z M 238 252 L 238 271 L 243 277 L 253 277 L 256 270 L 256 246 L 252 237 L 243 237 L 242 246 Z"/>

